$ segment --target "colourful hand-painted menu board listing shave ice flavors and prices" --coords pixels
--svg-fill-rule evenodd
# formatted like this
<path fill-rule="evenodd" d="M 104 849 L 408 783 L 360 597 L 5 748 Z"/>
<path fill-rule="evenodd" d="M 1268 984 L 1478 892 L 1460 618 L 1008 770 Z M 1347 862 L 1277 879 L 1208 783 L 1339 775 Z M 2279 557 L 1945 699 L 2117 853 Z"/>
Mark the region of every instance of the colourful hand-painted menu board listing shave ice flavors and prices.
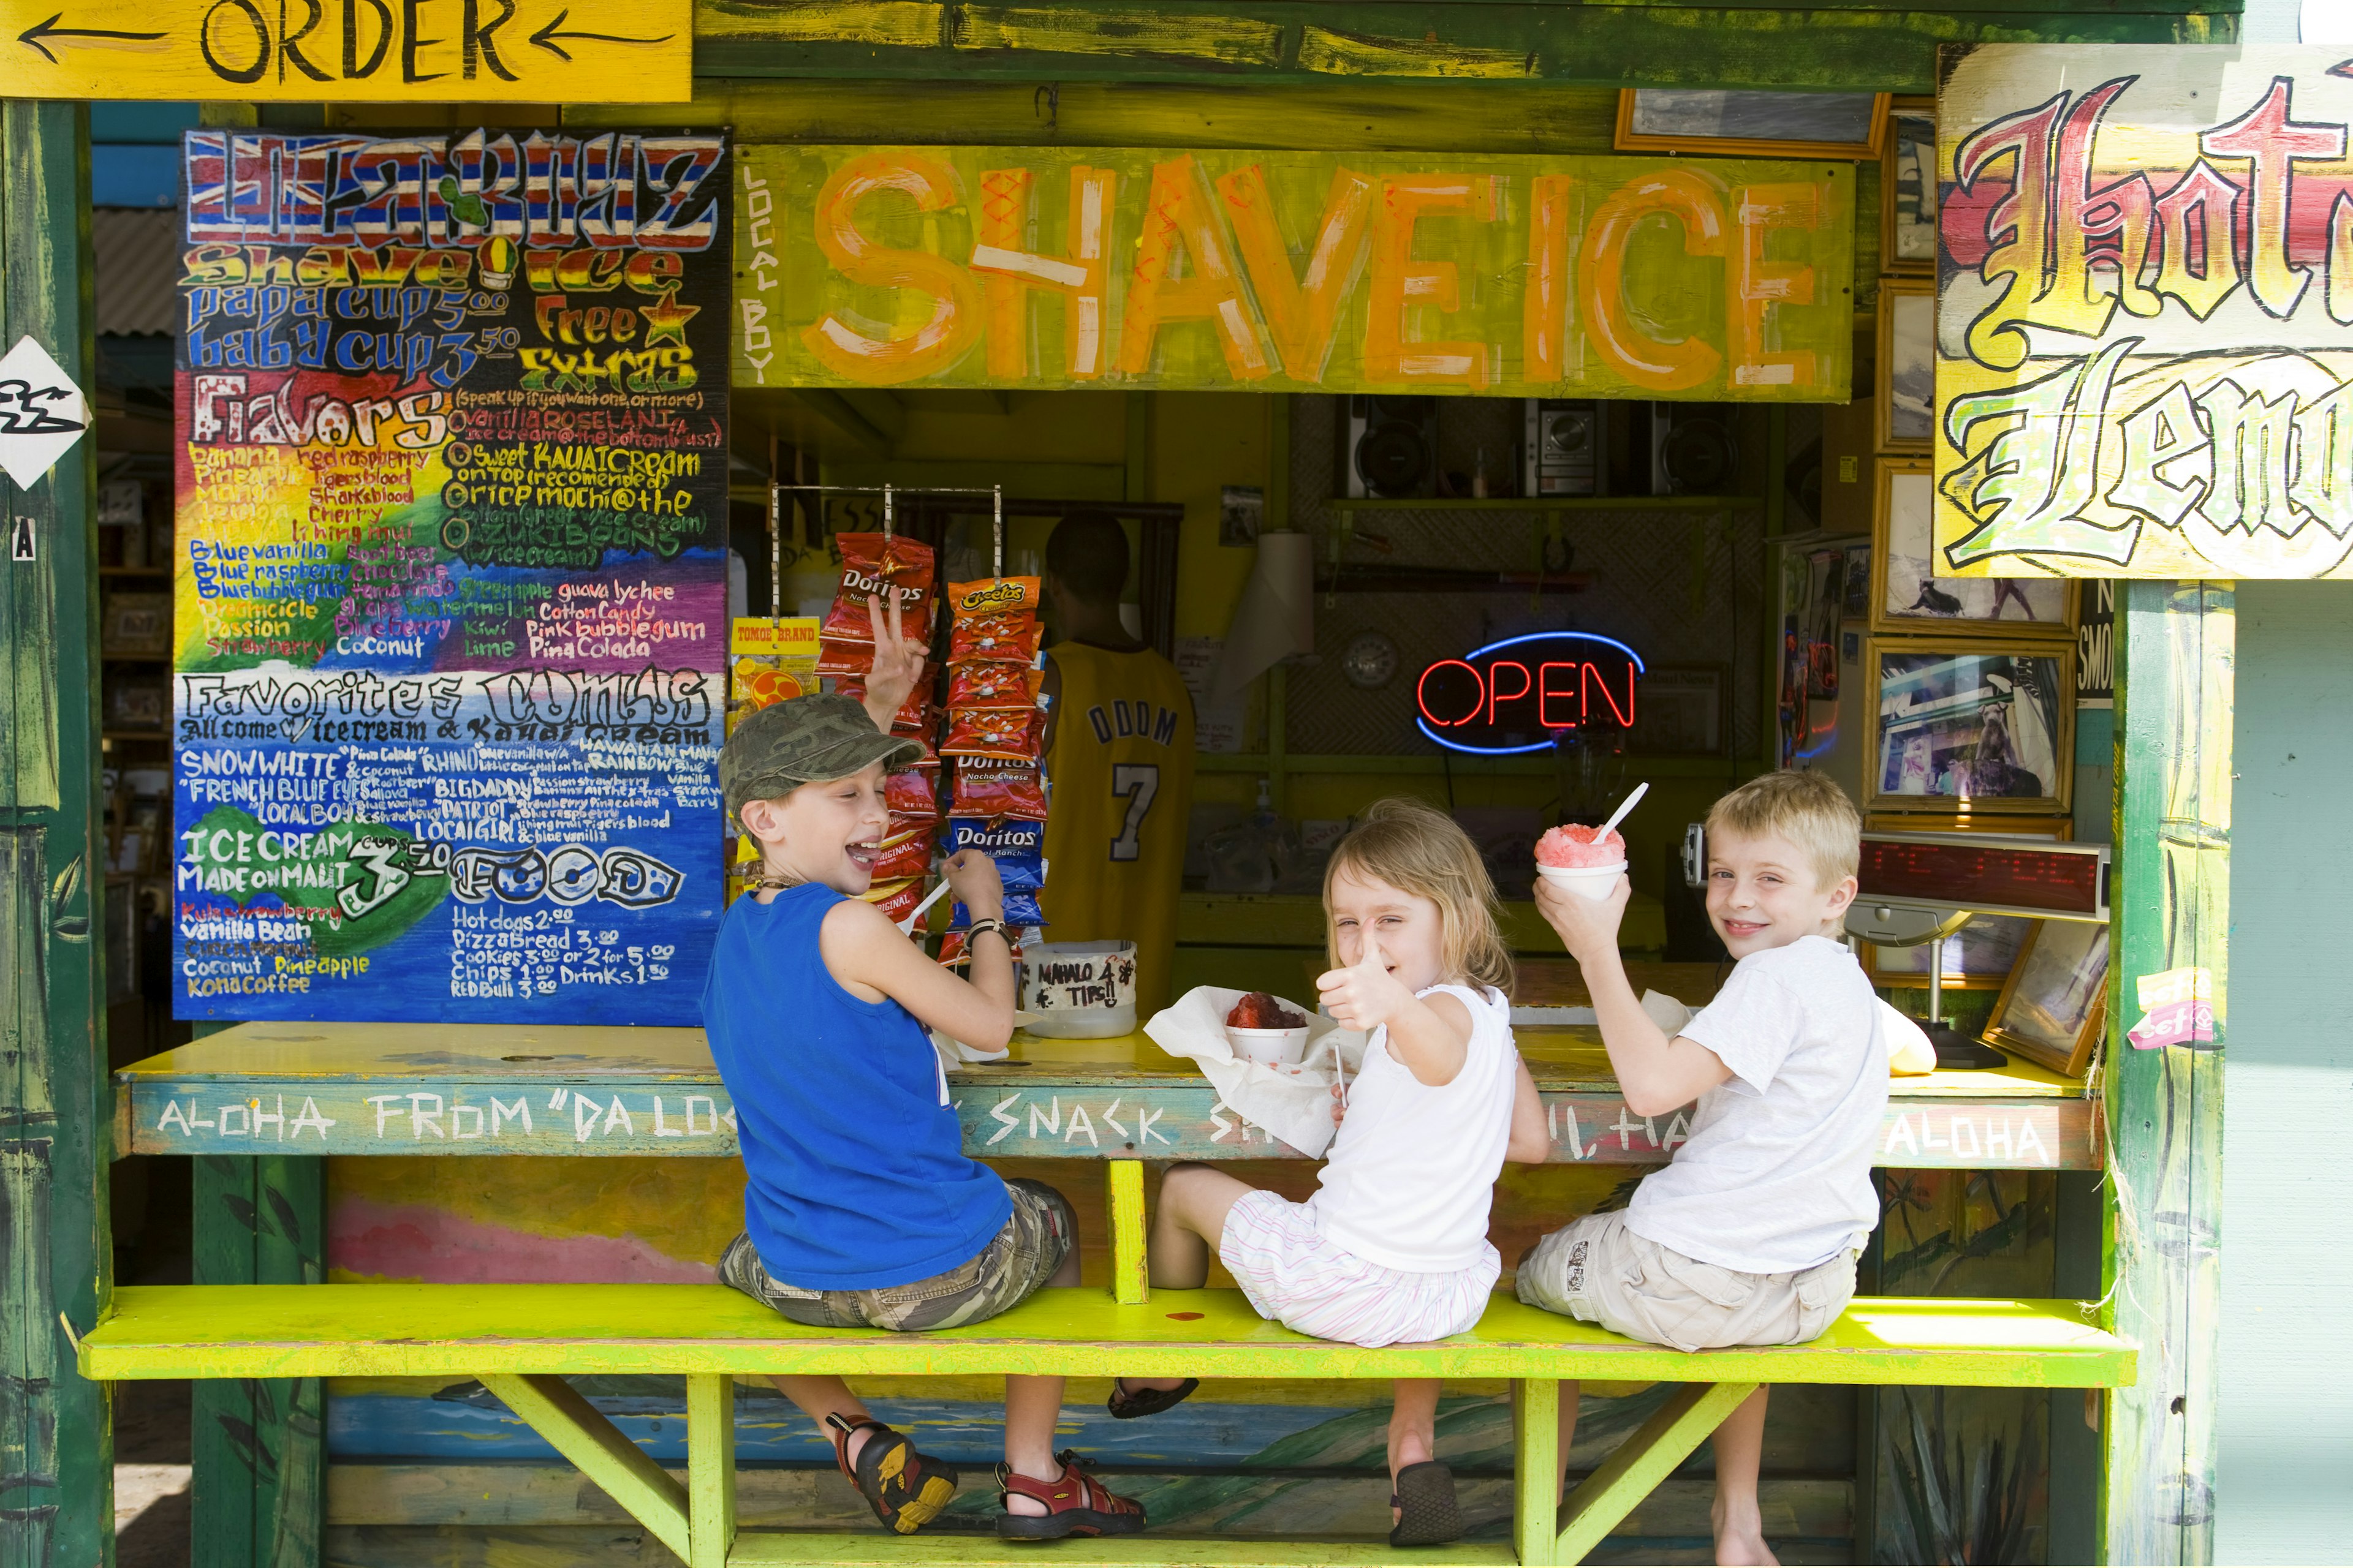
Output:
<path fill-rule="evenodd" d="M 727 150 L 186 136 L 181 1018 L 696 1020 Z"/>

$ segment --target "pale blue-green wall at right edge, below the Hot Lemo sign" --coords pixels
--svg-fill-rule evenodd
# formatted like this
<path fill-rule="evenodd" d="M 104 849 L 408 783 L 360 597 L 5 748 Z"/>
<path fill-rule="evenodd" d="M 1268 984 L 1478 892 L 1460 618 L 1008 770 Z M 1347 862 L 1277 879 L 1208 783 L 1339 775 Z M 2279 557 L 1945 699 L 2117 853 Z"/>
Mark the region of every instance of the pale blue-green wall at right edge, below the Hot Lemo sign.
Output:
<path fill-rule="evenodd" d="M 2353 1025 L 2334 987 L 2353 917 L 2353 592 L 2238 588 L 2233 1013 L 2221 1159 L 2214 1559 L 2308 1563 L 2353 1540 Z"/>

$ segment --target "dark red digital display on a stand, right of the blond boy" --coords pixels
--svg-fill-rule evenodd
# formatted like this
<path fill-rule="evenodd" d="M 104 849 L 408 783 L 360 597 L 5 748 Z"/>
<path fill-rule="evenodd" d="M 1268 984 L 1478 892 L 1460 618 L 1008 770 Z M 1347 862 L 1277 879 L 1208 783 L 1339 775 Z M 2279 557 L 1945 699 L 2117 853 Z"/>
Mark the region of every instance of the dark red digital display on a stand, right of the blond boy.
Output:
<path fill-rule="evenodd" d="M 1998 832 L 1866 832 L 1847 936 L 1878 947 L 1944 943 L 1977 914 L 2108 924 L 2108 846 Z M 1939 1067 L 2005 1067 L 2007 1056 L 1944 1023 L 1944 954 L 1927 966 Z"/>

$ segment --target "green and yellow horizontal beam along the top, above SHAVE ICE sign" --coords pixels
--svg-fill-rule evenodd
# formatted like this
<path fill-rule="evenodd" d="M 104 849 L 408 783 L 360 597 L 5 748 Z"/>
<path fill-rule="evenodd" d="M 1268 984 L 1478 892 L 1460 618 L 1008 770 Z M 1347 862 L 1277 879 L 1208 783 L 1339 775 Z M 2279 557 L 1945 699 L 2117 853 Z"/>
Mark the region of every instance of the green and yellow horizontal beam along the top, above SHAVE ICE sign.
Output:
<path fill-rule="evenodd" d="M 1482 85 L 1934 92 L 1946 42 L 2233 42 L 2238 7 L 2132 12 L 1981 0 L 1969 12 L 1831 0 L 699 0 L 694 66 L 732 78 L 1012 82 L 1461 80 Z"/>

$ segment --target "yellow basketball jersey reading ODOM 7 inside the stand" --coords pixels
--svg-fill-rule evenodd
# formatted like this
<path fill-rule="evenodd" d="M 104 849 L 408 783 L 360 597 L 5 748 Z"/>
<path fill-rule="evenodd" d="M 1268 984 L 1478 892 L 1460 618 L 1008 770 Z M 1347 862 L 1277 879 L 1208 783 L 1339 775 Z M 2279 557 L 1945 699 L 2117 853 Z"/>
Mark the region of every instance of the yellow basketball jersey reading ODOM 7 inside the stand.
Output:
<path fill-rule="evenodd" d="M 1061 670 L 1045 820 L 1047 940 L 1136 945 L 1136 1011 L 1169 1004 L 1193 806 L 1193 698 L 1151 649 L 1047 649 Z"/>

